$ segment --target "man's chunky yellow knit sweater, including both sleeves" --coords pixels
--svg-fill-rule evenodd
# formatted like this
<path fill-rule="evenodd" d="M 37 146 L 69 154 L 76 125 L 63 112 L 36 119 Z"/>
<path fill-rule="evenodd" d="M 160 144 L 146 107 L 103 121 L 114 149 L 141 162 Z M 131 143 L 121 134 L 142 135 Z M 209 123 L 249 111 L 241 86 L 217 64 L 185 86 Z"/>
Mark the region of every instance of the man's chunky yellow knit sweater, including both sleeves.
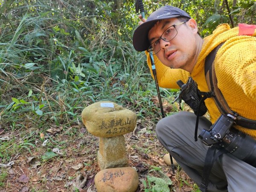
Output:
<path fill-rule="evenodd" d="M 179 88 L 176 84 L 178 80 L 186 82 L 188 77 L 192 76 L 199 90 L 209 91 L 204 75 L 205 58 L 212 49 L 226 41 L 218 50 L 214 61 L 218 88 L 232 111 L 236 111 L 245 118 L 256 120 L 256 38 L 238 36 L 238 31 L 238 27 L 230 29 L 229 25 L 222 24 L 215 29 L 212 35 L 204 38 L 202 50 L 191 74 L 182 69 L 170 69 L 154 56 L 160 87 Z M 256 36 L 256 32 L 253 36 Z M 151 70 L 149 55 L 147 55 L 147 60 Z M 205 104 L 211 116 L 211 122 L 214 123 L 221 113 L 212 98 L 206 99 Z M 236 128 L 256 139 L 256 130 L 240 126 Z"/>

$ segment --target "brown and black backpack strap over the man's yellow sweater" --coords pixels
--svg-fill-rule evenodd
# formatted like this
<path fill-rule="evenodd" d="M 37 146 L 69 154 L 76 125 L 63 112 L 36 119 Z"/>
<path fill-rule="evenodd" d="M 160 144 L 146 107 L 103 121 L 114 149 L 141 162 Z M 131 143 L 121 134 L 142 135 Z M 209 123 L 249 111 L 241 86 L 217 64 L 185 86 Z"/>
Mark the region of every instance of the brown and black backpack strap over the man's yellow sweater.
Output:
<path fill-rule="evenodd" d="M 221 114 L 223 115 L 230 114 L 232 116 L 236 116 L 237 114 L 231 111 L 230 107 L 227 105 L 227 102 L 224 96 L 221 93 L 221 90 L 218 88 L 218 81 L 217 81 L 215 69 L 214 69 L 213 61 L 215 59 L 215 55 L 218 49 L 223 44 L 224 43 L 219 44 L 217 47 L 215 47 L 215 49 L 212 50 L 212 52 L 209 53 L 209 55 L 207 55 L 205 59 L 205 65 L 204 65 L 204 74 L 205 74 L 205 79 L 207 82 L 208 89 L 209 91 L 212 91 L 214 93 L 213 99 L 218 110 L 221 112 Z M 236 116 L 236 124 L 245 128 L 256 129 L 256 121 L 244 118 L 239 115 Z"/>

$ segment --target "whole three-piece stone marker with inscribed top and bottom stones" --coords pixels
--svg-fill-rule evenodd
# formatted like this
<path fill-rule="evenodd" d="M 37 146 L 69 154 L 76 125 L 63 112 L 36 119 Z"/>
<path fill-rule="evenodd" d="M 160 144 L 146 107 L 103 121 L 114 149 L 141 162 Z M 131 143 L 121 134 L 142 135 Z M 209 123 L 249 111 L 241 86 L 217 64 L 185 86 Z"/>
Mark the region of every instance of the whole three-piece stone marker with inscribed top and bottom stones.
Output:
<path fill-rule="evenodd" d="M 82 111 L 87 130 L 99 137 L 98 165 L 94 178 L 98 192 L 134 192 L 139 184 L 135 169 L 128 167 L 123 134 L 136 127 L 137 116 L 113 102 L 96 102 Z"/>

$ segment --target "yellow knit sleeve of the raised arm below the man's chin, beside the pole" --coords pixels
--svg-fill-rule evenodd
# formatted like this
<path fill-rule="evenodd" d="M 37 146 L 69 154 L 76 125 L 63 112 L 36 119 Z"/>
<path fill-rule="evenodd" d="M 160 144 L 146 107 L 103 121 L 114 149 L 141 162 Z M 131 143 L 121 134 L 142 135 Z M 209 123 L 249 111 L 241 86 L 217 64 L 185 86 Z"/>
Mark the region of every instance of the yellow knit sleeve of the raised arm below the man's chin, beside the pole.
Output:
<path fill-rule="evenodd" d="M 154 79 L 149 53 L 145 51 L 145 54 L 147 55 L 147 62 L 151 72 L 151 76 Z M 154 55 L 154 64 L 157 71 L 157 81 L 160 87 L 173 88 L 173 89 L 180 88 L 176 82 L 178 80 L 181 80 L 184 83 L 186 83 L 186 81 L 190 76 L 190 73 L 185 70 L 171 69 L 170 67 L 165 66 L 155 55 Z"/>

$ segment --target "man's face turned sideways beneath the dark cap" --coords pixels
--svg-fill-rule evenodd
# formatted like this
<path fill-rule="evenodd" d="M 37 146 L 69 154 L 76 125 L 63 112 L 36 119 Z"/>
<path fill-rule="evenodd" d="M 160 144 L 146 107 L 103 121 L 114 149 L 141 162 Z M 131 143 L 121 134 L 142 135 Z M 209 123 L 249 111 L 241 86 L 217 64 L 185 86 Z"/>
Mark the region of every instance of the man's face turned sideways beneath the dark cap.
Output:
<path fill-rule="evenodd" d="M 156 54 L 157 58 L 167 67 L 192 71 L 197 60 L 199 44 L 197 26 L 195 20 L 191 20 L 176 26 L 177 35 L 171 41 L 160 39 L 158 42 L 160 51 Z M 157 41 L 167 28 L 178 23 L 181 21 L 177 18 L 161 20 L 148 32 L 150 43 Z"/>

